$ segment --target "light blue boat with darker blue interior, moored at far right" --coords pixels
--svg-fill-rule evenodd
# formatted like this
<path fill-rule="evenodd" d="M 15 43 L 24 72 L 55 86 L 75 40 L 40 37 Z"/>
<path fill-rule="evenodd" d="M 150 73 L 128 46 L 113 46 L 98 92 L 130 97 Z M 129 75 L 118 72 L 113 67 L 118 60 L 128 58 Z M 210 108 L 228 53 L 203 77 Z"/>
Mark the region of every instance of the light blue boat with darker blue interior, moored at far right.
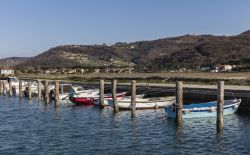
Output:
<path fill-rule="evenodd" d="M 237 111 L 241 99 L 224 100 L 223 115 L 233 114 Z M 167 117 L 175 118 L 175 104 L 171 107 L 165 107 Z M 183 105 L 182 118 L 195 118 L 195 117 L 215 117 L 217 115 L 217 101 L 206 102 L 199 104 Z"/>

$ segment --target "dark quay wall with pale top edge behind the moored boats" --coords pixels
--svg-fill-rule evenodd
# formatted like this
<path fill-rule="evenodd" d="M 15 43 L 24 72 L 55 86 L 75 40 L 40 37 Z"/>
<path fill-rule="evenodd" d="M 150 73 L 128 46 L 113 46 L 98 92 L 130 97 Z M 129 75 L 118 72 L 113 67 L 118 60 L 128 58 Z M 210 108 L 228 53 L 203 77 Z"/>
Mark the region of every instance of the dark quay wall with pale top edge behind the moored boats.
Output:
<path fill-rule="evenodd" d="M 216 83 L 215 83 L 216 84 Z M 183 85 L 183 102 L 196 103 L 208 102 L 217 100 L 217 85 L 198 85 L 185 84 Z M 92 84 L 98 85 L 98 84 Z M 111 90 L 110 82 L 105 82 L 105 89 Z M 130 83 L 118 83 L 120 90 L 129 90 Z M 162 83 L 140 83 L 137 82 L 136 89 L 139 93 L 147 90 L 149 97 L 154 96 L 172 96 L 176 94 L 176 84 Z M 239 112 L 248 113 L 250 111 L 250 86 L 225 85 L 224 99 L 240 98 L 242 103 L 238 109 Z"/>

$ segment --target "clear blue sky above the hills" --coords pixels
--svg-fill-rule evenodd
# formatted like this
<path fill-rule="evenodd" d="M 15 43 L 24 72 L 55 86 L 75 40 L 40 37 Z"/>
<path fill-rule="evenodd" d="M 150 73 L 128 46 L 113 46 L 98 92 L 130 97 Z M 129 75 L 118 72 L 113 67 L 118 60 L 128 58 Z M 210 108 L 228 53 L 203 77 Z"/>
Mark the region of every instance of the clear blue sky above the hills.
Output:
<path fill-rule="evenodd" d="M 0 58 L 250 29 L 250 0 L 0 0 Z"/>

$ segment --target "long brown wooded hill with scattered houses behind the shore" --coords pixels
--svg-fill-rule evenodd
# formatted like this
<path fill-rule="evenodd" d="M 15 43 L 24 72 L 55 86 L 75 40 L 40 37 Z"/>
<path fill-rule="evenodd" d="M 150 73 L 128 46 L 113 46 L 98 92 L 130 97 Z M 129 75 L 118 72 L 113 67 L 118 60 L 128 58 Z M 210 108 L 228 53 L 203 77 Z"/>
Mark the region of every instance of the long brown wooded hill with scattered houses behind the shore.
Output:
<path fill-rule="evenodd" d="M 159 71 L 215 64 L 250 65 L 250 31 L 236 36 L 184 35 L 109 45 L 65 45 L 18 67 L 125 67 Z"/>

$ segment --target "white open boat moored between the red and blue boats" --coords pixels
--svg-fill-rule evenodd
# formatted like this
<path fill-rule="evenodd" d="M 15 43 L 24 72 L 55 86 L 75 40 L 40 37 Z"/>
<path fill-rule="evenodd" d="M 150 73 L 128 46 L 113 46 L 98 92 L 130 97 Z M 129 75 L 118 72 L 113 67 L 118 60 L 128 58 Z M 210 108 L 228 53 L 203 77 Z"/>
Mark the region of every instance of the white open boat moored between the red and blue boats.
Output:
<path fill-rule="evenodd" d="M 114 107 L 113 100 L 106 100 L 109 105 Z M 153 98 L 140 98 L 136 97 L 136 106 L 137 110 L 140 109 L 155 109 L 155 108 L 164 108 L 171 106 L 175 102 L 174 96 L 169 97 L 153 97 Z M 124 97 L 122 99 L 117 99 L 117 106 L 121 110 L 130 110 L 131 107 L 131 96 Z"/>

